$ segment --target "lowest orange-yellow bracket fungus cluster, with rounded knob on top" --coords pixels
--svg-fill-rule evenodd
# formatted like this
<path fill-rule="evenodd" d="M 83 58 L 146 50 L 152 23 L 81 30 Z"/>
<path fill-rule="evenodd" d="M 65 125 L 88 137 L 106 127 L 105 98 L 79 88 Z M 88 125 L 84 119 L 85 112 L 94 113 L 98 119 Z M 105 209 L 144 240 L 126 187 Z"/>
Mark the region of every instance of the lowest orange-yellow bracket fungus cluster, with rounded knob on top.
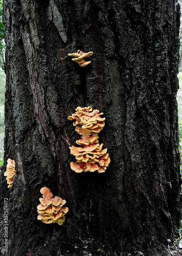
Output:
<path fill-rule="evenodd" d="M 37 219 L 46 224 L 58 223 L 62 225 L 65 220 L 64 215 L 69 211 L 69 208 L 62 207 L 66 201 L 58 196 L 53 198 L 53 194 L 48 187 L 42 187 L 40 193 L 43 194 L 43 198 L 39 198 Z"/>

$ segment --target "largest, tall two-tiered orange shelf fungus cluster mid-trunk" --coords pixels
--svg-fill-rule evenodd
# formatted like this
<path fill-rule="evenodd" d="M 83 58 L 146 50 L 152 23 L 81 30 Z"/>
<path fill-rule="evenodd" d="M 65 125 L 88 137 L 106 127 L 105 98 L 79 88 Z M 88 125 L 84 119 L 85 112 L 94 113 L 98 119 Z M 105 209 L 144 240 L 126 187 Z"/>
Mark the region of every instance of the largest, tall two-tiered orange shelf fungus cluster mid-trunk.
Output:
<path fill-rule="evenodd" d="M 75 131 L 81 135 L 81 139 L 76 143 L 79 147 L 71 146 L 71 154 L 73 154 L 77 162 L 71 162 L 71 169 L 76 173 L 95 172 L 104 173 L 106 167 L 110 163 L 110 158 L 107 154 L 107 148 L 102 150 L 103 144 L 99 144 L 98 133 L 103 129 L 105 118 L 100 116 L 99 110 L 93 110 L 91 106 L 81 108 L 78 106 L 76 113 L 69 116 L 69 120 L 75 119 L 73 125 Z"/>

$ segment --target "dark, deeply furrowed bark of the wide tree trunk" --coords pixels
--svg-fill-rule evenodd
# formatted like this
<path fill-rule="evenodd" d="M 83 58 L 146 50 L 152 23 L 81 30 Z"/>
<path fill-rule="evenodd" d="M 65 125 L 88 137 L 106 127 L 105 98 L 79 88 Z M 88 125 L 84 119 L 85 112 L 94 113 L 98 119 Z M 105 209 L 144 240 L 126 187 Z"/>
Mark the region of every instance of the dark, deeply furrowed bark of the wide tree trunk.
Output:
<path fill-rule="evenodd" d="M 4 0 L 8 255 L 168 255 L 180 220 L 179 9 L 175 0 Z M 94 52 L 86 68 L 67 56 L 78 49 Z M 70 168 L 79 136 L 67 117 L 88 105 L 106 118 L 104 174 Z M 37 220 L 43 186 L 67 202 L 62 226 Z"/>

